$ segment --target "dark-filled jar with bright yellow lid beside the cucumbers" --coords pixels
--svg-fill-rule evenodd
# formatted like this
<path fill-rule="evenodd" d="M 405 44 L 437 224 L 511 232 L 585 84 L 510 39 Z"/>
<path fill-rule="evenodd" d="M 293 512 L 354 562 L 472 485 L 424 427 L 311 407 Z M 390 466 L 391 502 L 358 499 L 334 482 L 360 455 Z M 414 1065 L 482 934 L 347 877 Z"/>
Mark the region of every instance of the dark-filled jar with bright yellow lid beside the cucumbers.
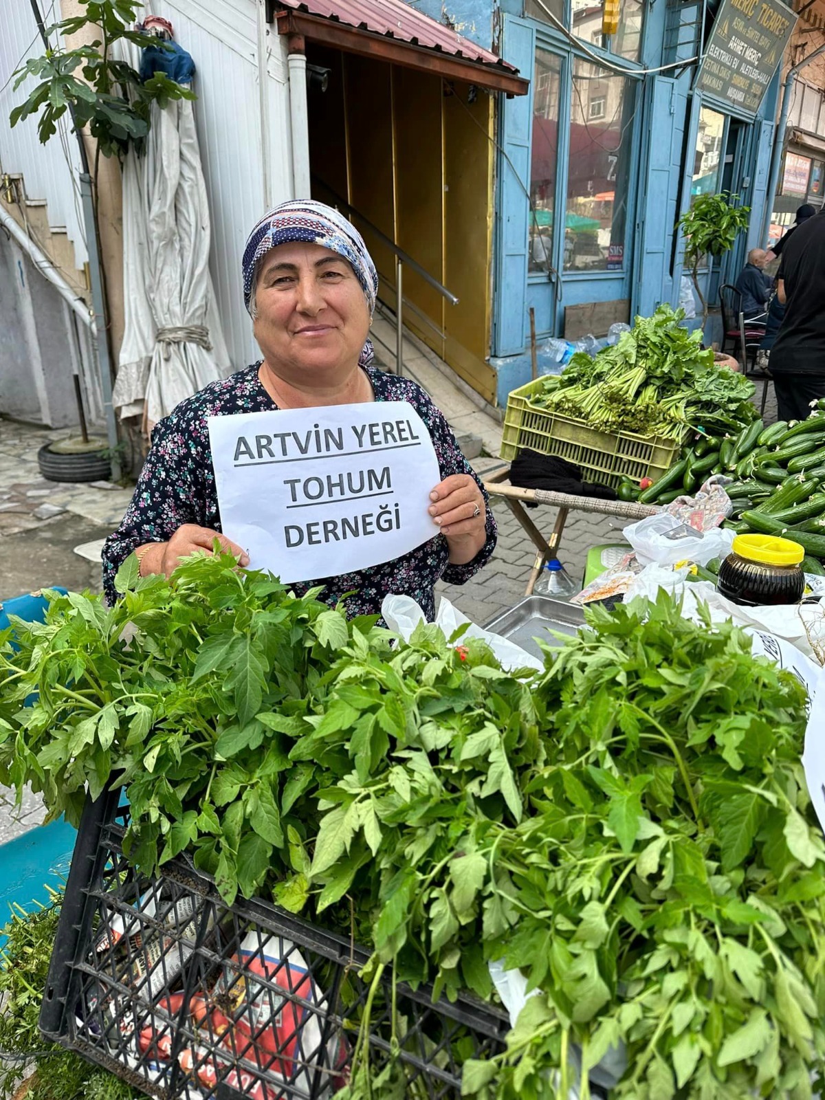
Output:
<path fill-rule="evenodd" d="M 719 566 L 716 591 L 735 604 L 798 604 L 805 591 L 798 542 L 773 535 L 737 535 L 733 551 Z"/>

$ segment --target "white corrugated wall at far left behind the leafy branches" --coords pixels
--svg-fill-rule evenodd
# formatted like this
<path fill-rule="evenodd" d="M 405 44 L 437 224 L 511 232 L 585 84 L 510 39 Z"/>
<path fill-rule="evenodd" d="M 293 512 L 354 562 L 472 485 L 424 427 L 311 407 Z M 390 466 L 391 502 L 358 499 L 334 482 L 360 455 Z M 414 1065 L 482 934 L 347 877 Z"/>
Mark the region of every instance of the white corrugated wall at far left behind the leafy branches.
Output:
<path fill-rule="evenodd" d="M 41 0 L 46 25 L 61 18 L 58 0 Z M 48 220 L 53 228 L 65 227 L 75 245 L 77 267 L 82 268 L 87 258 L 82 229 L 82 212 L 77 193 L 80 170 L 76 138 L 63 131 L 45 145 L 37 139 L 34 118 L 19 122 L 12 130 L 9 114 L 22 103 L 32 88 L 33 78 L 13 90 L 12 74 L 28 57 L 37 57 L 43 45 L 37 34 L 29 0 L 4 0 L 0 32 L 0 172 L 11 175 L 22 173 L 26 197 L 45 199 Z"/>

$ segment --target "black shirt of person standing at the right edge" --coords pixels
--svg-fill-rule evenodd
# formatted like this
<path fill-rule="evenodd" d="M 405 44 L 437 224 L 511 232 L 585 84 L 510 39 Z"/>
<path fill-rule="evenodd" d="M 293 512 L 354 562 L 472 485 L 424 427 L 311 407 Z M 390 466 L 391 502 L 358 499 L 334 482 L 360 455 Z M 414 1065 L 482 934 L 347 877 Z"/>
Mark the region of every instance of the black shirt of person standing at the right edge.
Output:
<path fill-rule="evenodd" d="M 771 351 L 771 374 L 825 376 L 825 217 L 793 231 L 782 253 L 785 316 Z"/>

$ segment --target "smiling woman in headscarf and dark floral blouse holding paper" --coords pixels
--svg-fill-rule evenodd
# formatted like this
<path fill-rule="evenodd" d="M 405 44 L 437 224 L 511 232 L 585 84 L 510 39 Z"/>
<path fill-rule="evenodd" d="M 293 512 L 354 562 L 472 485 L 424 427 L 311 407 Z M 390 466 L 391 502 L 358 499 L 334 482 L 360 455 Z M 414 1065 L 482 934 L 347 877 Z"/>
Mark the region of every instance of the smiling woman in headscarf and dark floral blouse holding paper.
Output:
<path fill-rule="evenodd" d="M 370 365 L 366 339 L 378 276 L 358 230 L 320 202 L 284 202 L 252 230 L 243 254 L 243 293 L 263 359 L 215 382 L 162 420 L 123 521 L 103 547 L 103 586 L 114 600 L 114 574 L 130 553 L 141 575 L 169 575 L 216 537 L 249 564 L 221 531 L 207 417 L 361 402 L 406 400 L 432 438 L 441 482 L 430 492 L 440 534 L 403 557 L 356 573 L 307 578 L 298 593 L 323 585 L 346 613 L 374 615 L 388 593 L 413 596 L 428 619 L 443 578 L 463 584 L 488 560 L 496 525 L 487 497 L 443 416 L 415 382 Z"/>

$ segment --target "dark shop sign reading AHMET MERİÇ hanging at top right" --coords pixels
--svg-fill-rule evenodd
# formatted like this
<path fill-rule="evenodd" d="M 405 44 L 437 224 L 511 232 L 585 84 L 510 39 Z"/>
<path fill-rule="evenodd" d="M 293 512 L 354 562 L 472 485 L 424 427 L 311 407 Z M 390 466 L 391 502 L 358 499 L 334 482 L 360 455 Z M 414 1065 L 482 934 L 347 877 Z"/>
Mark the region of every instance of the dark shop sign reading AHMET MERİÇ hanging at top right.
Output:
<path fill-rule="evenodd" d="M 756 114 L 795 22 L 796 13 L 781 0 L 722 0 L 696 90 Z"/>

